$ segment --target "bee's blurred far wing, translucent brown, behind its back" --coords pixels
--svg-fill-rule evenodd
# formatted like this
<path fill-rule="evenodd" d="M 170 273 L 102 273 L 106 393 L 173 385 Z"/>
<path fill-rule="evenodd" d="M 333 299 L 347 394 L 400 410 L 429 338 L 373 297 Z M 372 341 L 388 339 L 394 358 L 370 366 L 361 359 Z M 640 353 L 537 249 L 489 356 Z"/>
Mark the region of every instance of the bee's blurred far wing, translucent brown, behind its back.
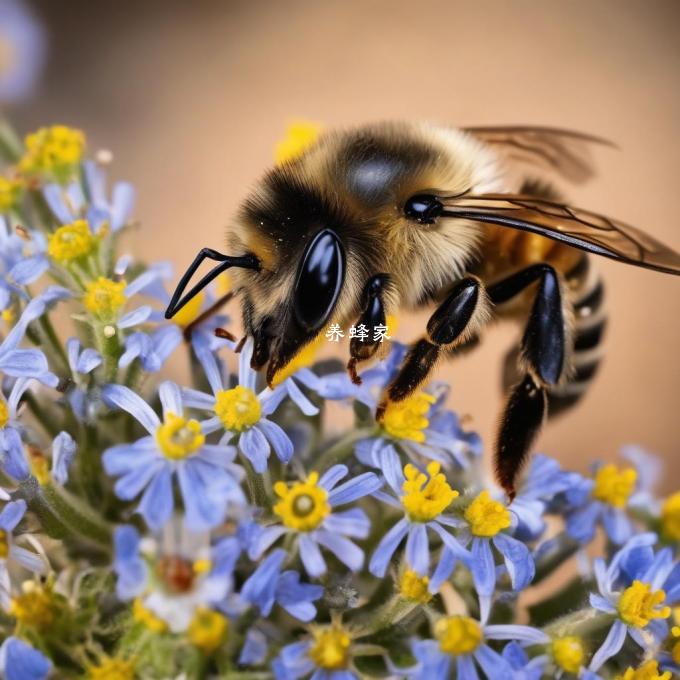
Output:
<path fill-rule="evenodd" d="M 490 144 L 511 163 L 528 164 L 556 172 L 580 184 L 594 174 L 591 148 L 612 142 L 575 130 L 551 127 L 468 127 L 465 132 Z"/>

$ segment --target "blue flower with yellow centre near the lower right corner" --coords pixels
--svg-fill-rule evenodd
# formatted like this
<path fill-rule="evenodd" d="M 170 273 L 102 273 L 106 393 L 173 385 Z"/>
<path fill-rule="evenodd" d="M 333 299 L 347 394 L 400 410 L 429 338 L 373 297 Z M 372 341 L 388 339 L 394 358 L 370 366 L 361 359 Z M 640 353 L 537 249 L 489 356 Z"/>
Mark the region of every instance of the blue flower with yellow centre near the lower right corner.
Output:
<path fill-rule="evenodd" d="M 680 599 L 680 572 L 670 548 L 653 554 L 651 546 L 656 541 L 653 533 L 638 534 L 614 554 L 609 566 L 601 558 L 595 560 L 599 593 L 590 594 L 590 604 L 615 620 L 593 656 L 590 670 L 598 671 L 617 654 L 628 635 L 643 649 L 649 644 L 646 634 L 657 643 L 666 637 L 669 605 Z"/>

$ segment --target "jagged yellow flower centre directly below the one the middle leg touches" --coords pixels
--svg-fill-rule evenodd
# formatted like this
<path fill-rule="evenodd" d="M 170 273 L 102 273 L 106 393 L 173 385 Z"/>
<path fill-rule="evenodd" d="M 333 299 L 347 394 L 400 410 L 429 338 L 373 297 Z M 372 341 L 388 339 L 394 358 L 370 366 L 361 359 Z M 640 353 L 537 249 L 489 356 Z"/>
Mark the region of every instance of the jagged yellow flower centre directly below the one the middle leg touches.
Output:
<path fill-rule="evenodd" d="M 446 477 L 440 472 L 441 465 L 432 461 L 427 465 L 427 475 L 410 463 L 404 467 L 406 480 L 401 488 L 401 504 L 414 522 L 429 522 L 440 515 L 458 497 Z"/>

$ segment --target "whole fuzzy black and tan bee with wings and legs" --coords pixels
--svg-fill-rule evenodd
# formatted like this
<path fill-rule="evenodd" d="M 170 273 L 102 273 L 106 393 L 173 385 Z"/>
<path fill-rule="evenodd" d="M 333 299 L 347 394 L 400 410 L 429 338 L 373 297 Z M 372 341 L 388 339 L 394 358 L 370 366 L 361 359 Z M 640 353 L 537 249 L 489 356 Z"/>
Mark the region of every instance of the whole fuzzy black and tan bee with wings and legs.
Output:
<path fill-rule="evenodd" d="M 680 255 L 651 236 L 507 172 L 529 164 L 583 181 L 594 144 L 608 142 L 541 127 L 387 123 L 322 134 L 264 175 L 227 234 L 229 254 L 201 250 L 166 317 L 231 269 L 252 366 L 271 385 L 329 320 L 370 328 L 434 306 L 384 390 L 378 421 L 440 359 L 473 347 L 491 320 L 519 320 L 495 444 L 496 477 L 512 499 L 548 413 L 578 401 L 602 356 L 605 293 L 589 255 L 680 274 Z M 181 297 L 206 258 L 217 266 Z M 351 340 L 353 381 L 383 348 Z"/>

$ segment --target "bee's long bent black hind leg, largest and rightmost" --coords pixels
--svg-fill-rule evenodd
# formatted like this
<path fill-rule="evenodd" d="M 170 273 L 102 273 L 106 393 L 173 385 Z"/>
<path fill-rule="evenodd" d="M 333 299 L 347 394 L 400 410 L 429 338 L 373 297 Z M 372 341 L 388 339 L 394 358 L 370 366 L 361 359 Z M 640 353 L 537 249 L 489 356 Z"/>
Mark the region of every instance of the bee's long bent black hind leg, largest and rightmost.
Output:
<path fill-rule="evenodd" d="M 503 304 L 538 282 L 520 345 L 523 377 L 512 389 L 496 442 L 496 477 L 512 500 L 515 479 L 546 417 L 547 388 L 566 371 L 569 301 L 560 275 L 548 264 L 535 264 L 488 288 L 494 304 Z"/>

